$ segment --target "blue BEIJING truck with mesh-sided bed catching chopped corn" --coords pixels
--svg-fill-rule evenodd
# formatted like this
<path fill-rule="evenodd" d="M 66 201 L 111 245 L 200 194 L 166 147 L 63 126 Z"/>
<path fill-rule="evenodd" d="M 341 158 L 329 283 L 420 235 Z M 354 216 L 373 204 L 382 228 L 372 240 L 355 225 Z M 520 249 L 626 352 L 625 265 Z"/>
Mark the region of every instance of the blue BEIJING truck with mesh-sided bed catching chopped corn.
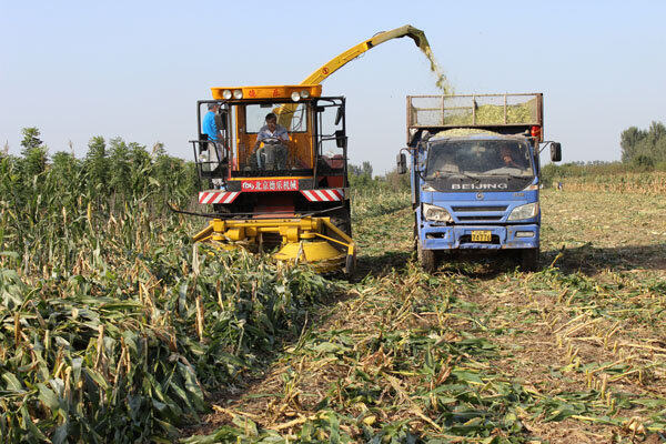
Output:
<path fill-rule="evenodd" d="M 407 97 L 407 148 L 398 173 L 412 185 L 418 261 L 433 271 L 446 252 L 516 252 L 534 271 L 539 258 L 539 153 L 543 94 Z"/>

